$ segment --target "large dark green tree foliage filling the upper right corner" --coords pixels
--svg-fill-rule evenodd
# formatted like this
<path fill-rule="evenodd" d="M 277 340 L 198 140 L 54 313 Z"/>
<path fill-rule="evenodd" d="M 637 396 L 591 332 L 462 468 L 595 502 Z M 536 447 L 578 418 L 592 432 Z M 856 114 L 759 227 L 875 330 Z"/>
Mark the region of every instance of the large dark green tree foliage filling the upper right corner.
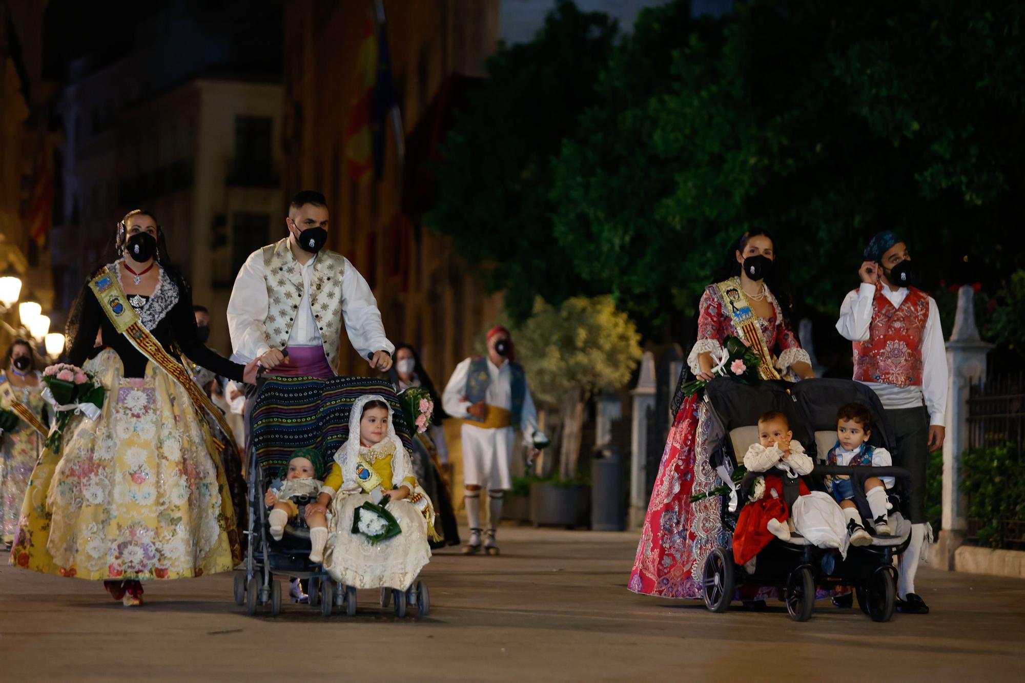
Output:
<path fill-rule="evenodd" d="M 692 310 L 750 229 L 777 235 L 796 303 L 821 312 L 884 228 L 933 282 L 966 254 L 1019 262 L 1025 3 L 739 4 L 691 22 L 668 78 L 629 96 L 686 4 L 642 15 L 556 164 L 557 237 L 626 311 Z"/>

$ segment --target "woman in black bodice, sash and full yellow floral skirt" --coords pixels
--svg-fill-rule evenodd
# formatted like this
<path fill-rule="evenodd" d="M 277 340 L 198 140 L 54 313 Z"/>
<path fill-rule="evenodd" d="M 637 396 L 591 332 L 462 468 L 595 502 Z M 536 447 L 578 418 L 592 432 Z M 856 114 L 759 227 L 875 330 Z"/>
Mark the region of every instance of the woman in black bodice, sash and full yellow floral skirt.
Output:
<path fill-rule="evenodd" d="M 152 213 L 126 215 L 116 244 L 121 257 L 83 288 L 69 330 L 69 361 L 108 390 L 102 411 L 73 417 L 59 452 L 43 451 L 11 562 L 102 579 L 116 600 L 138 605 L 142 580 L 231 571 L 241 560 L 221 460 L 237 454 L 213 436 L 218 415 L 179 352 L 237 381 L 252 381 L 255 362 L 233 363 L 199 340 L 192 293 Z M 97 330 L 106 346 L 95 353 Z"/>

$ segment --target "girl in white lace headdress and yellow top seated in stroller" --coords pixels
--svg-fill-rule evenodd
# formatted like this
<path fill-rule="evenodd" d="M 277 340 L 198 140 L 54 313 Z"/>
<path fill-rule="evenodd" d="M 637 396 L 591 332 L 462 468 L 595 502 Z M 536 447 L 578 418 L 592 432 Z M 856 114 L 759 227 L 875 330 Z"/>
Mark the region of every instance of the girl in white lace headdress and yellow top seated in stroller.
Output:
<path fill-rule="evenodd" d="M 330 504 L 324 567 L 345 586 L 404 591 L 430 560 L 430 499 L 416 483 L 382 397 L 358 398 L 348 424 L 348 441 L 334 454 L 313 506 L 316 513 Z M 375 513 L 380 507 L 387 514 Z"/>

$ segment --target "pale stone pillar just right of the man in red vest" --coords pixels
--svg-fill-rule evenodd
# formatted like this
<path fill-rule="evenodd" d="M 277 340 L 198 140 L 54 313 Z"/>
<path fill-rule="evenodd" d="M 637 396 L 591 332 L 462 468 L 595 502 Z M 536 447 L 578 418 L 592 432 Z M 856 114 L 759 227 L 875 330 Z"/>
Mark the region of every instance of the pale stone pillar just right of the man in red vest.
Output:
<path fill-rule="evenodd" d="M 979 337 L 975 324 L 975 290 L 957 292 L 957 315 L 947 342 L 946 439 L 943 442 L 943 518 L 933 561 L 939 569 L 954 568 L 954 552 L 968 531 L 967 500 L 961 490 L 960 458 L 969 447 L 969 389 L 986 378 L 986 354 L 993 345 Z"/>

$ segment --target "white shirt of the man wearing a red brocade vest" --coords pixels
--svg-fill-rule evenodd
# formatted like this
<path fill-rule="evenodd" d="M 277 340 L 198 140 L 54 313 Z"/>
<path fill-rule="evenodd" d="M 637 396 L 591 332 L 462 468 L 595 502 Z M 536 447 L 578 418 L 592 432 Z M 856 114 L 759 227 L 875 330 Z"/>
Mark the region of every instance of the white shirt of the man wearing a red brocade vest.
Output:
<path fill-rule="evenodd" d="M 907 296 L 907 287 L 894 291 L 886 285 L 880 286 L 883 295 L 894 308 L 900 308 Z M 867 342 L 874 297 L 875 285 L 871 284 L 862 283 L 857 291 L 850 292 L 839 309 L 836 331 L 852 342 Z M 932 296 L 929 297 L 929 319 L 919 350 L 922 365 L 920 387 L 895 387 L 874 381 L 864 384 L 878 395 L 884 408 L 896 410 L 925 405 L 929 411 L 929 424 L 942 427 L 947 407 L 947 353 L 940 326 L 940 311 Z"/>

